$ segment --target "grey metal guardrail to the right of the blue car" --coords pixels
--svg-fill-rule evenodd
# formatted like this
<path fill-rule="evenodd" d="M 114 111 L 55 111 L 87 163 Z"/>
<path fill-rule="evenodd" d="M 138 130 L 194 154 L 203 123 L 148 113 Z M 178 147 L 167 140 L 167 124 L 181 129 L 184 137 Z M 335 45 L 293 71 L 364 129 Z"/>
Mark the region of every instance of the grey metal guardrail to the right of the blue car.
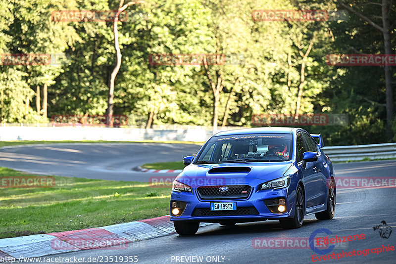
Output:
<path fill-rule="evenodd" d="M 323 147 L 332 161 L 396 158 L 396 143 Z"/>

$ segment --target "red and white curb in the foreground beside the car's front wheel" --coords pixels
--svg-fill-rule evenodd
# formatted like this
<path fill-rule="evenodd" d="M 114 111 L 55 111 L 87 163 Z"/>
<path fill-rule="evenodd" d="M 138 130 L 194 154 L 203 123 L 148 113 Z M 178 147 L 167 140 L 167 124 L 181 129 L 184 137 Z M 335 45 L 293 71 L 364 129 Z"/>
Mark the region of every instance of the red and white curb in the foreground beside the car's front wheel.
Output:
<path fill-rule="evenodd" d="M 209 224 L 212 223 L 201 223 L 199 226 Z M 144 240 L 175 232 L 169 216 L 163 216 L 97 228 L 3 238 L 0 239 L 0 262 L 9 262 L 9 258 L 18 260 L 87 249 L 147 247 Z"/>

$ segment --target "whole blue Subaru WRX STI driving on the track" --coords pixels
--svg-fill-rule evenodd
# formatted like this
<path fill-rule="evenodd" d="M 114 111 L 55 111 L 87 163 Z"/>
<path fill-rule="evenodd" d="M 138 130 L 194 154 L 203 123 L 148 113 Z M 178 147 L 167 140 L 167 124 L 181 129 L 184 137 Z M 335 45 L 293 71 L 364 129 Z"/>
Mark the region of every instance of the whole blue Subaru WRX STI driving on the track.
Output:
<path fill-rule="evenodd" d="M 316 138 L 319 143 L 315 141 Z M 320 134 L 299 128 L 219 132 L 183 159 L 173 181 L 171 220 L 180 235 L 199 222 L 279 220 L 298 228 L 305 215 L 332 219 L 336 206 L 333 165 Z"/>

